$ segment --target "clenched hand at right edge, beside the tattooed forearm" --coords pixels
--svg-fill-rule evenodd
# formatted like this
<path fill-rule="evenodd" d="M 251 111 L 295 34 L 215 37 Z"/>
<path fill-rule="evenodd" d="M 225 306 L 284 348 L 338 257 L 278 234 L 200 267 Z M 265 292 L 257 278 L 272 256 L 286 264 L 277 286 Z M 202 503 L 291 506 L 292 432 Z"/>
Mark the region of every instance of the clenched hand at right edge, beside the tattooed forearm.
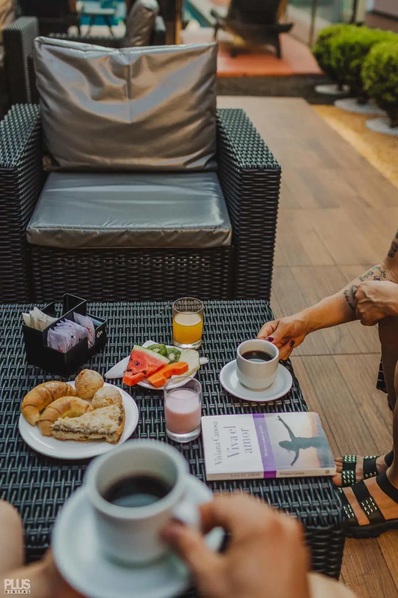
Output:
<path fill-rule="evenodd" d="M 364 326 L 398 315 L 398 285 L 390 280 L 365 280 L 358 286 L 355 299 L 357 319 Z"/>

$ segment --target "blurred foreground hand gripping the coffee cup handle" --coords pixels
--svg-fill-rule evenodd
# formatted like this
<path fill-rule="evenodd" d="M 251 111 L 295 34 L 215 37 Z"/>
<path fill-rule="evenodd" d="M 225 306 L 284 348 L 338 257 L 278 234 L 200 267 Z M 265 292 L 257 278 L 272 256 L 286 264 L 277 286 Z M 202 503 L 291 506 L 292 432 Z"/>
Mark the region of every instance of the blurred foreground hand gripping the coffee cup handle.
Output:
<path fill-rule="evenodd" d="M 191 569 L 206 598 L 310 598 L 308 554 L 301 525 L 244 495 L 216 496 L 201 505 L 204 533 L 231 532 L 224 554 L 210 550 L 194 528 L 171 523 L 163 540 Z"/>

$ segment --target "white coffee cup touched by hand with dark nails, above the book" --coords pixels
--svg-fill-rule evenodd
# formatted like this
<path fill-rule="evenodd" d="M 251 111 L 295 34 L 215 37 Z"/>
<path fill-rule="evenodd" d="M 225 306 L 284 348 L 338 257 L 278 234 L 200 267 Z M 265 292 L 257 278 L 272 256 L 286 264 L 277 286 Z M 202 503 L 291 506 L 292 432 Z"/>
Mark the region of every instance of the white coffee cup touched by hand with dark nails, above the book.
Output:
<path fill-rule="evenodd" d="M 243 357 L 248 351 L 264 351 L 272 356 L 270 361 L 249 361 Z M 277 376 L 279 351 L 273 343 L 260 338 L 245 340 L 238 346 L 236 367 L 238 380 L 250 390 L 265 390 Z"/>

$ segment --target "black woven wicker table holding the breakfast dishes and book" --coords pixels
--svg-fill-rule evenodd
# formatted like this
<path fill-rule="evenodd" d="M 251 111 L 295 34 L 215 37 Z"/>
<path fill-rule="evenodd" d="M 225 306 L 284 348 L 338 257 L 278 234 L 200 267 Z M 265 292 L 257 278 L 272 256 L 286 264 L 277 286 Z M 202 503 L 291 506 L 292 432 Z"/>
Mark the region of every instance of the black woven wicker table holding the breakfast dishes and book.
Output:
<path fill-rule="evenodd" d="M 81 485 L 87 462 L 64 462 L 35 453 L 19 435 L 18 418 L 23 396 L 33 386 L 54 376 L 25 363 L 21 313 L 29 306 L 0 306 L 0 498 L 21 513 L 25 526 L 27 560 L 41 556 L 49 544 L 58 509 Z M 30 307 L 31 309 L 31 307 Z M 100 373 L 128 355 L 134 343 L 148 338 L 172 341 L 170 303 L 94 303 L 90 313 L 108 319 L 108 344 L 87 364 Z M 205 305 L 203 354 L 209 364 L 198 378 L 203 385 L 203 413 L 254 413 L 305 411 L 298 381 L 293 374 L 290 392 L 275 402 L 248 404 L 226 395 L 218 374 L 235 358 L 242 340 L 253 338 L 273 315 L 265 301 L 209 301 Z M 140 387 L 130 389 L 140 410 L 134 437 L 168 441 L 164 429 L 163 393 Z M 201 440 L 178 446 L 191 473 L 205 480 Z M 213 490 L 244 490 L 261 496 L 274 507 L 297 515 L 304 523 L 316 571 L 338 578 L 344 549 L 341 502 L 327 477 L 239 480 L 213 482 Z M 195 592 L 186 594 L 195 596 Z"/>

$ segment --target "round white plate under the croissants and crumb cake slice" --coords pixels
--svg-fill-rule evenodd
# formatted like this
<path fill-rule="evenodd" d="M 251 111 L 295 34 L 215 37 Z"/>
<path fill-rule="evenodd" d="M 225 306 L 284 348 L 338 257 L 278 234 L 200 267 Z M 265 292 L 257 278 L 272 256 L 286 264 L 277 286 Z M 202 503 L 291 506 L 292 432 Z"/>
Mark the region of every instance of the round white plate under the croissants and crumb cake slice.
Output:
<path fill-rule="evenodd" d="M 74 382 L 68 382 L 75 388 Z M 104 383 L 104 386 L 114 386 L 112 384 Z M 26 444 L 30 448 L 36 450 L 38 453 L 45 454 L 47 457 L 55 457 L 56 459 L 88 459 L 95 457 L 97 454 L 106 453 L 114 446 L 124 443 L 137 427 L 139 420 L 139 411 L 133 397 L 127 394 L 125 390 L 115 387 L 119 390 L 123 398 L 123 406 L 125 411 L 125 424 L 123 434 L 117 444 L 109 444 L 105 440 L 93 440 L 88 443 L 80 443 L 75 440 L 57 440 L 51 436 L 43 436 L 39 431 L 38 426 L 31 426 L 27 423 L 22 414 L 19 416 L 19 432 Z"/>

